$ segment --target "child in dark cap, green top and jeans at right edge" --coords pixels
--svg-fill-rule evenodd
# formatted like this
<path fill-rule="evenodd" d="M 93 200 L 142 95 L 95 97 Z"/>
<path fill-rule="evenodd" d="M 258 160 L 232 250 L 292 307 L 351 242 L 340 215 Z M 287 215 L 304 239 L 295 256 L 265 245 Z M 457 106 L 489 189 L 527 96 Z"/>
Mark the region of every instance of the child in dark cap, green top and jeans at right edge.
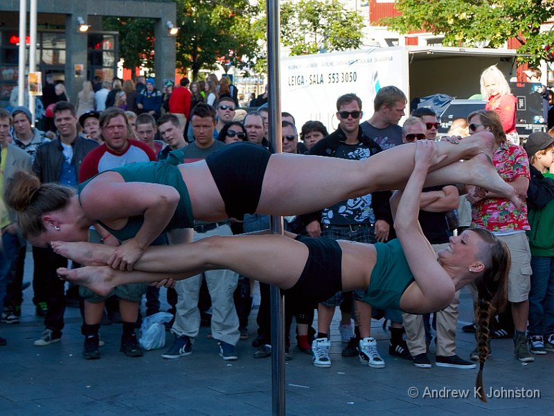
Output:
<path fill-rule="evenodd" d="M 554 181 L 548 169 L 554 162 L 554 137 L 531 133 L 524 146 L 531 181 L 527 189 L 527 232 L 531 250 L 531 287 L 527 337 L 531 354 L 554 351 Z"/>

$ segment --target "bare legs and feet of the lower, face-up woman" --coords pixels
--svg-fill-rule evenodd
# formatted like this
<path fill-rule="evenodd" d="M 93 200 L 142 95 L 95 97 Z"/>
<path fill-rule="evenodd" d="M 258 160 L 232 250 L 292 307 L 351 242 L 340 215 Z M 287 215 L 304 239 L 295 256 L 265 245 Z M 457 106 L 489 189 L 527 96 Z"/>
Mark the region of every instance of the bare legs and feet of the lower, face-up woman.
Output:
<path fill-rule="evenodd" d="M 106 264 L 116 248 L 92 243 L 57 241 L 53 248 L 70 259 L 94 259 Z M 186 255 L 184 255 L 186 254 Z M 135 270 L 148 273 L 128 273 L 107 266 L 89 266 L 75 270 L 59 269 L 60 276 L 103 293 L 120 284 L 159 281 L 159 273 L 173 274 L 173 279 L 186 279 L 202 270 L 230 269 L 247 277 L 260 277 L 267 284 L 291 288 L 300 277 L 307 259 L 307 247 L 285 236 L 208 237 L 195 243 L 150 247 L 134 265 Z M 286 264 L 287 267 L 283 268 Z M 108 270 L 106 270 L 108 269 Z M 92 270 L 98 272 L 98 279 Z M 123 275 L 121 275 L 123 273 Z M 104 283 L 99 284 L 99 281 Z M 95 285 L 93 288 L 91 285 Z"/>

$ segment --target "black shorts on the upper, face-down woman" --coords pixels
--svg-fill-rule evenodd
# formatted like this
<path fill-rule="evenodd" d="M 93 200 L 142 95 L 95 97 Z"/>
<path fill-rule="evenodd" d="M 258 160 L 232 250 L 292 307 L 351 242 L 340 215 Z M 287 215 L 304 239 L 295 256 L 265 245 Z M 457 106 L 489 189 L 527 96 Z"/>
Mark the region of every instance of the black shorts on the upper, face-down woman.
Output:
<path fill-rule="evenodd" d="M 229 218 L 256 212 L 270 156 L 259 144 L 240 142 L 206 157 Z"/>

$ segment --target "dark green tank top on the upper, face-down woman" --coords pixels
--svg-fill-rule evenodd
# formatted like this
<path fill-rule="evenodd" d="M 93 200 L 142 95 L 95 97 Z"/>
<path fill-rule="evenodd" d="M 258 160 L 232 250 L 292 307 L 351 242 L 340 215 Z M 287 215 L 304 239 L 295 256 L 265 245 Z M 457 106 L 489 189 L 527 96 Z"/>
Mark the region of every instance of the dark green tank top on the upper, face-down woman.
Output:
<path fill-rule="evenodd" d="M 175 214 L 173 214 L 166 229 L 163 230 L 164 232 L 176 228 L 190 228 L 194 225 L 193 208 L 190 205 L 188 189 L 183 180 L 183 177 L 181 176 L 179 168 L 175 166 L 176 160 L 177 159 L 169 159 L 169 161 L 164 162 L 132 163 L 125 166 L 120 166 L 118 168 L 109 169 L 109 171 L 117 172 L 121 176 L 123 176 L 123 180 L 125 180 L 125 182 L 148 182 L 154 184 L 163 184 L 177 189 L 181 198 L 179 198 L 179 203 L 177 204 L 177 209 L 175 209 Z M 93 177 L 79 184 L 79 199 L 80 193 L 92 179 Z M 136 233 L 139 232 L 139 229 L 141 229 L 144 223 L 144 217 L 129 217 L 129 219 L 127 220 L 127 224 L 121 229 L 112 229 L 110 227 L 107 227 L 107 225 L 105 225 L 101 221 L 97 222 L 98 224 L 102 225 L 102 227 L 105 227 L 105 229 L 107 229 L 111 234 L 116 236 L 117 239 L 125 241 L 136 236 Z"/>

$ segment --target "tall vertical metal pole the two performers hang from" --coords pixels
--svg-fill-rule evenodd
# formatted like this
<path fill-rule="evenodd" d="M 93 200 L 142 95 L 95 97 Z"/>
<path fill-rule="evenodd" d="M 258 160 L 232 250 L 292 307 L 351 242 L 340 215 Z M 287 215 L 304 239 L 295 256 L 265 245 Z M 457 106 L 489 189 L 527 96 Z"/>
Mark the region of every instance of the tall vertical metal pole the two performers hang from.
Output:
<path fill-rule="evenodd" d="M 281 105 L 279 76 L 279 1 L 267 0 L 267 76 L 269 91 L 269 140 L 281 153 Z M 283 234 L 283 217 L 271 216 L 271 232 Z M 271 286 L 271 408 L 285 415 L 285 304 L 279 289 Z"/>

